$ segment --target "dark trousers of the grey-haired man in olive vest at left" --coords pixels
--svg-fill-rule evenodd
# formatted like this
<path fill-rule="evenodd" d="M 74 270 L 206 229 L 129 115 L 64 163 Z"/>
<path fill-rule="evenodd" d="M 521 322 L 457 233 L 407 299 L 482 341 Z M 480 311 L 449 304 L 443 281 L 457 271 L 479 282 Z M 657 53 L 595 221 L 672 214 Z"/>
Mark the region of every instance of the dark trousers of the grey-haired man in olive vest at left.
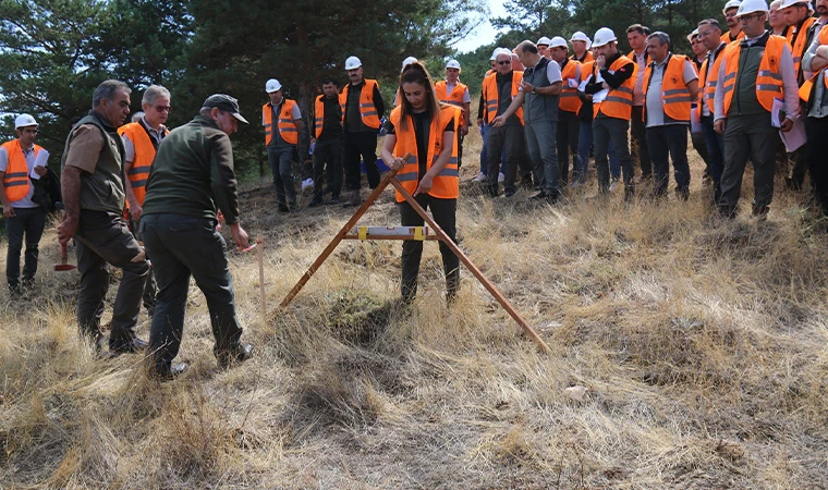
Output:
<path fill-rule="evenodd" d="M 75 232 L 81 292 L 77 295 L 77 323 L 81 333 L 100 336 L 104 299 L 109 291 L 107 264 L 123 271 L 112 307 L 109 347 L 119 350 L 135 338 L 141 298 L 149 273 L 146 259 L 133 262 L 141 246 L 130 233 L 121 213 L 81 210 Z"/>

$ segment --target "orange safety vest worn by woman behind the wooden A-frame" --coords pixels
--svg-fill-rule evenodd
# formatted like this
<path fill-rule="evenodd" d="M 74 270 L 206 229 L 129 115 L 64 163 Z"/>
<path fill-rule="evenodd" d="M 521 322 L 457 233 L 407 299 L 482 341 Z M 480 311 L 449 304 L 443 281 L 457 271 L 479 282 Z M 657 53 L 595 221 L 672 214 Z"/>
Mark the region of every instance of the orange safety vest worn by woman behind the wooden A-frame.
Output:
<path fill-rule="evenodd" d="M 409 117 L 407 125 L 405 130 L 400 127 L 402 109 L 400 106 L 395 107 L 391 111 L 391 124 L 394 126 L 397 135 L 397 144 L 394 145 L 394 157 L 403 157 L 405 154 L 411 154 L 411 157 L 405 161 L 405 166 L 397 173 L 397 180 L 405 191 L 410 194 L 414 194 L 417 189 L 417 183 L 419 177 L 419 160 L 417 156 L 417 138 L 414 134 L 414 121 Z M 442 151 L 442 128 L 449 124 L 449 121 L 454 120 L 456 124 L 456 108 L 453 106 L 441 105 L 439 117 L 431 119 L 431 127 L 428 131 L 428 156 L 426 157 L 427 169 L 430 169 L 437 157 Z M 458 146 L 455 144 L 456 138 L 451 138 L 451 158 L 442 171 L 434 177 L 431 184 L 431 191 L 428 195 L 440 199 L 456 199 L 460 195 L 460 180 L 458 179 Z M 399 191 L 397 193 L 397 201 L 402 203 L 405 198 L 402 197 Z"/>

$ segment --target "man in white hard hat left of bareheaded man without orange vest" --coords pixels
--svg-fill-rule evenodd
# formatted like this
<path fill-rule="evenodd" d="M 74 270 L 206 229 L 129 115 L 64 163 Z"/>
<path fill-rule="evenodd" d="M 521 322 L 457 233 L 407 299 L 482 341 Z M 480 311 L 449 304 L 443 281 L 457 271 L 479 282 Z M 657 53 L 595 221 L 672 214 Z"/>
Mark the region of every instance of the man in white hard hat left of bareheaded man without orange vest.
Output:
<path fill-rule="evenodd" d="M 508 49 L 501 49 L 497 53 L 497 72 L 486 75 L 483 79 L 480 96 L 484 107 L 480 108 L 478 115 L 489 123 L 489 132 L 486 136 L 486 176 L 488 177 L 486 191 L 489 197 L 496 197 L 499 193 L 498 169 L 503 150 L 506 152 L 503 161 L 506 196 L 511 197 L 516 192 L 515 179 L 519 166 L 522 167 L 524 180 L 532 182 L 532 169 L 521 158 L 526 154 L 523 109 L 518 108 L 511 117 L 502 121 L 502 124 L 494 125 L 495 118 L 503 114 L 509 109 L 512 99 L 518 96 L 522 79 L 523 72 L 512 70 L 512 53 Z"/>

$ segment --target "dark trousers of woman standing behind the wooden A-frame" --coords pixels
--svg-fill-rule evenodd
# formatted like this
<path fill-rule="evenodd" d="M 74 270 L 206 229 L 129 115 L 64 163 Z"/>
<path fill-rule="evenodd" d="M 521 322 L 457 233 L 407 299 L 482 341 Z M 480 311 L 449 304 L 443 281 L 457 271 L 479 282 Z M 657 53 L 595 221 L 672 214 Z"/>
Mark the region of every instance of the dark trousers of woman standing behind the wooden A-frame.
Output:
<path fill-rule="evenodd" d="M 428 194 L 419 194 L 415 197 L 423 209 L 430 209 L 435 222 L 446 232 L 452 242 L 456 243 L 456 199 L 438 199 Z M 399 203 L 400 221 L 403 226 L 422 226 L 423 218 L 407 203 Z M 460 259 L 451 248 L 440 242 L 440 255 L 442 256 L 442 269 L 446 273 L 446 296 L 453 299 L 460 289 Z M 417 275 L 419 274 L 419 260 L 423 257 L 423 242 L 406 240 L 402 243 L 402 298 L 411 302 L 417 294 Z"/>

